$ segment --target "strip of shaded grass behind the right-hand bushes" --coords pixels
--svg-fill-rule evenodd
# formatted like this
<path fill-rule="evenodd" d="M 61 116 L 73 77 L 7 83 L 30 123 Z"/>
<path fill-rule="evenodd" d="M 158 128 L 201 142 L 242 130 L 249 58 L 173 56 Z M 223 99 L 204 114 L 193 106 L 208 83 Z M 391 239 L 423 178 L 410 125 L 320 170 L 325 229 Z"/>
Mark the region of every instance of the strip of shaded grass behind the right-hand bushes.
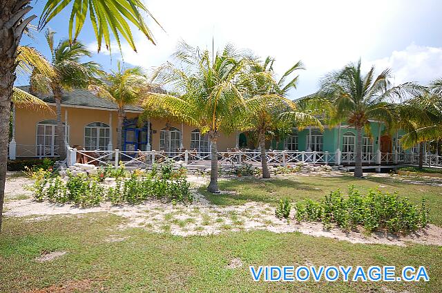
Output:
<path fill-rule="evenodd" d="M 364 179 L 358 179 L 352 176 L 287 176 L 284 179 L 278 177 L 271 180 L 249 177 L 219 182 L 221 190 L 236 191 L 234 194 L 213 194 L 207 192 L 204 188 L 200 188 L 199 191 L 214 205 L 243 205 L 250 201 L 268 202 L 276 205 L 281 198 L 289 198 L 294 202 L 307 198 L 319 200 L 336 189 L 347 191 L 349 185 L 355 185 L 361 191 L 376 188 L 390 193 L 398 191 L 399 196 L 406 196 L 416 204 L 420 202 L 421 198 L 426 198 L 431 209 L 430 222 L 439 226 L 442 225 L 441 187 L 416 185 L 389 177 L 368 176 Z"/>

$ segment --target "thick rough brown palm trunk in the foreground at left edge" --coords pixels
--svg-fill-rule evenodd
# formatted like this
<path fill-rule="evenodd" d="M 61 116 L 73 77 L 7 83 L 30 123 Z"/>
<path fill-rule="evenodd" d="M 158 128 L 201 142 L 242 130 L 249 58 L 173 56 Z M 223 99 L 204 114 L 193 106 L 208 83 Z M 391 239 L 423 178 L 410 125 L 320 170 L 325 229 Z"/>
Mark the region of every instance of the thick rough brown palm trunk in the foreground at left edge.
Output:
<path fill-rule="evenodd" d="M 29 1 L 0 0 L 0 231 L 5 198 L 8 162 L 9 119 L 12 88 L 15 82 L 15 58 L 23 30 L 35 15 L 23 20 L 32 10 Z"/>

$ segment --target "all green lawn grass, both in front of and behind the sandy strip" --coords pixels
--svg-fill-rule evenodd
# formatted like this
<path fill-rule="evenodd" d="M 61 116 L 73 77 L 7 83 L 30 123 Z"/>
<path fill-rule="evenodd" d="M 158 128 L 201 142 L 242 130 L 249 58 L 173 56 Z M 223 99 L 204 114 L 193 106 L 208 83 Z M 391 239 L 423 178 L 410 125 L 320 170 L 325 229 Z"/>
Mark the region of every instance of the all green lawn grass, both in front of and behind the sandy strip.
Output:
<path fill-rule="evenodd" d="M 337 188 L 347 190 L 354 184 L 363 191 L 381 185 L 385 191 L 398 191 L 418 202 L 428 199 L 430 220 L 442 225 L 442 189 L 414 185 L 394 178 L 355 179 L 350 176 L 287 176 L 285 179 L 220 181 L 220 189 L 235 194 L 207 194 L 216 205 L 242 205 L 257 201 L 276 204 L 280 198 L 297 201 L 322 198 Z M 267 211 L 273 213 L 274 209 Z M 218 216 L 196 223 L 191 215 L 203 214 L 192 209 L 189 218 L 164 215 L 161 229 L 155 234 L 142 228 L 121 229 L 126 219 L 108 213 L 81 216 L 51 216 L 38 222 L 29 218 L 5 218 L 0 236 L 0 292 L 27 292 L 68 287 L 68 292 L 441 292 L 442 247 L 410 243 L 392 245 L 351 244 L 332 238 L 317 238 L 299 233 L 243 231 L 240 217 L 229 211 L 228 225 Z M 203 215 L 204 216 L 204 215 Z M 253 216 L 253 215 L 251 215 Z M 222 234 L 208 236 L 173 236 L 171 225 L 204 231 L 204 224 L 219 223 Z M 266 225 L 271 223 L 267 222 Z M 189 227 L 187 227 L 189 225 Z M 231 229 L 240 231 L 232 232 Z M 122 241 L 110 242 L 110 238 Z M 68 252 L 45 263 L 35 261 L 42 252 Z M 230 269 L 233 258 L 242 267 Z M 425 266 L 427 283 L 307 283 L 253 282 L 249 265 L 405 265 Z"/>

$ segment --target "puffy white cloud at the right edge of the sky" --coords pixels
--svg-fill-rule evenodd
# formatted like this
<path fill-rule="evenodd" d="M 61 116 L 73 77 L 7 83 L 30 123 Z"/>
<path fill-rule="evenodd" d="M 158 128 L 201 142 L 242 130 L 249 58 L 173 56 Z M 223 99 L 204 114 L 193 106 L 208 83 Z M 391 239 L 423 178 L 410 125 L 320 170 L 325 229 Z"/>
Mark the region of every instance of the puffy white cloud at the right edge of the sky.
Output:
<path fill-rule="evenodd" d="M 372 62 L 378 70 L 391 68 L 394 83 L 428 82 L 442 77 L 442 48 L 410 44 L 404 50 L 395 50 L 389 57 Z"/>

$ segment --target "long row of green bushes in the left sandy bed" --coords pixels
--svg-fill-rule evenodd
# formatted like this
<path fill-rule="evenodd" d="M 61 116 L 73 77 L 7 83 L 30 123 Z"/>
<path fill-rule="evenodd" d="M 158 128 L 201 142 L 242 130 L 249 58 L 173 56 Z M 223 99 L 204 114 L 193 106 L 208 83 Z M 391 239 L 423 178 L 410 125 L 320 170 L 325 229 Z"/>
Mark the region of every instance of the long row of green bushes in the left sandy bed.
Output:
<path fill-rule="evenodd" d="M 125 175 L 119 173 L 115 179 L 115 187 L 109 187 L 107 190 L 99 185 L 102 176 L 86 176 L 86 174 L 74 176 L 68 172 L 68 180 L 64 182 L 59 176 L 52 176 L 50 171 L 43 169 L 30 174 L 35 179 L 32 190 L 38 201 L 70 202 L 81 207 L 89 207 L 99 205 L 104 200 L 111 201 L 113 205 L 123 202 L 137 204 L 148 198 L 167 198 L 173 203 L 193 200 L 190 183 L 181 171 L 172 172 L 171 180 L 147 171 L 134 171 L 129 178 L 124 178 Z"/>

